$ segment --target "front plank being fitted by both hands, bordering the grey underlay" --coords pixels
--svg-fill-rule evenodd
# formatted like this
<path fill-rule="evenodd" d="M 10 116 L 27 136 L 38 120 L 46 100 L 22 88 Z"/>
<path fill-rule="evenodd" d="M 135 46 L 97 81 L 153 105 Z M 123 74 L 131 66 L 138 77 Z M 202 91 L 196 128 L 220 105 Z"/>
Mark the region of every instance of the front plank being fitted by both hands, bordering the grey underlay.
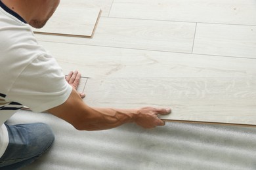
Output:
<path fill-rule="evenodd" d="M 255 78 L 89 78 L 95 107 L 171 107 L 164 120 L 256 126 Z"/>

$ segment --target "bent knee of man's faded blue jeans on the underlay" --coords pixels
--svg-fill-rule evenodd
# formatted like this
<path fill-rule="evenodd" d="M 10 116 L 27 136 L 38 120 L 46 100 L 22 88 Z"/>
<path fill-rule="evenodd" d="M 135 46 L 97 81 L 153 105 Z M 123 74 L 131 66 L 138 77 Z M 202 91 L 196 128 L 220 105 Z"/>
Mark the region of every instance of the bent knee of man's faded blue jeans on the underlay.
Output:
<path fill-rule="evenodd" d="M 0 158 L 0 169 L 20 169 L 46 152 L 54 141 L 51 127 L 43 123 L 7 127 L 9 144 Z"/>

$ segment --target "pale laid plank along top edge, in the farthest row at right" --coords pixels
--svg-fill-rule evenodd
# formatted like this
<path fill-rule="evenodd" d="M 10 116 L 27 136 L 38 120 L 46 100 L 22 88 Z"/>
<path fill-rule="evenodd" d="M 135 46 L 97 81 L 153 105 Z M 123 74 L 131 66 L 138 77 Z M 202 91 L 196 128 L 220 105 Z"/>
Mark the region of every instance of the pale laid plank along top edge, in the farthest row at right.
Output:
<path fill-rule="evenodd" d="M 251 0 L 115 0 L 111 17 L 256 25 Z"/>

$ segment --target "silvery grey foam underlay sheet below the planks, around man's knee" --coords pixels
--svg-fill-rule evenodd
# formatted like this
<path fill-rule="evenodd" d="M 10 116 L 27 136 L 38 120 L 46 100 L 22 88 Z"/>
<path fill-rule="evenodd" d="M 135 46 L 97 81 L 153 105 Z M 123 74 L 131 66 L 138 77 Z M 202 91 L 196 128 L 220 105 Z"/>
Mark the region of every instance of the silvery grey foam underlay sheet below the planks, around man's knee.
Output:
<path fill-rule="evenodd" d="M 77 131 L 51 114 L 20 110 L 8 124 L 45 122 L 54 145 L 24 169 L 256 169 L 256 128 L 167 123 Z"/>

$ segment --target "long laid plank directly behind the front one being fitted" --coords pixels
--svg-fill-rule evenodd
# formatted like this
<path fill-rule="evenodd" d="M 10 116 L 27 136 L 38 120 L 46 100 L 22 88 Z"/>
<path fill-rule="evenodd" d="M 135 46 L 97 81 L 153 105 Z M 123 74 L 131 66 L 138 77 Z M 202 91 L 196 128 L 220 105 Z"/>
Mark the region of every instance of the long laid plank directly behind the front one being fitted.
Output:
<path fill-rule="evenodd" d="M 39 42 L 62 67 L 92 78 L 256 77 L 256 59 Z"/>

